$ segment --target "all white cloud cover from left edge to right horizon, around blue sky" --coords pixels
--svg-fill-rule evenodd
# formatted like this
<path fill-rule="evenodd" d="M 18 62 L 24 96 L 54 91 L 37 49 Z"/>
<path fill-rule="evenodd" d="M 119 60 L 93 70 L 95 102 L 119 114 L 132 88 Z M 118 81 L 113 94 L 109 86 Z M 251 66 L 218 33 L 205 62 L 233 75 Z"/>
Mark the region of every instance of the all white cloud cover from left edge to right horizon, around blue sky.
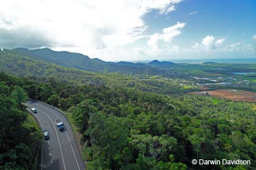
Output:
<path fill-rule="evenodd" d="M 146 59 L 154 55 L 169 57 L 174 54 L 178 57 L 191 57 L 192 50 L 210 54 L 251 52 L 255 49 L 254 44 L 246 45 L 243 41 L 238 44 L 210 35 L 197 43 L 193 41 L 192 48 L 186 47 L 185 42 L 179 48 L 171 42 L 181 34 L 185 23 L 177 23 L 164 28 L 162 32 L 146 35 L 148 25 L 144 16 L 153 10 L 160 15 L 167 15 L 175 11 L 180 2 L 181 0 L 3 1 L 0 6 L 0 47 L 47 46 L 54 50 L 100 57 L 106 61 L 141 59 L 139 56 Z M 197 12 L 199 11 L 191 12 L 190 15 Z M 255 39 L 254 35 L 253 40 Z"/>

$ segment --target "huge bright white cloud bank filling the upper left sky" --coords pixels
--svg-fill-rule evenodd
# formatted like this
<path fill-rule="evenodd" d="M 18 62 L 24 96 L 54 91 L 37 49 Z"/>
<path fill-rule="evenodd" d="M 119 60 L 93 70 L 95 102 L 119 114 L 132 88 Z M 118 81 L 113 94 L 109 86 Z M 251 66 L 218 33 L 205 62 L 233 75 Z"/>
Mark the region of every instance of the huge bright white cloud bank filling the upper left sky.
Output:
<path fill-rule="evenodd" d="M 9 0 L 0 6 L 0 46 L 74 50 L 122 46 L 146 37 L 143 16 L 181 0 Z"/>

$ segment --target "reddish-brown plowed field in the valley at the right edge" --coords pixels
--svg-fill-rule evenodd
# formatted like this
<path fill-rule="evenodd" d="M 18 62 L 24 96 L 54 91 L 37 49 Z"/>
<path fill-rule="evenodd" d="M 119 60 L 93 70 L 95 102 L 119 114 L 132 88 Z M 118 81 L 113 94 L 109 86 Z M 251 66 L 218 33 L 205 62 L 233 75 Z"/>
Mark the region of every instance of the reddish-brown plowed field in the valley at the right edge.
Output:
<path fill-rule="evenodd" d="M 244 90 L 222 89 L 204 92 L 191 92 L 190 94 L 204 95 L 206 92 L 208 92 L 210 96 L 221 97 L 224 99 L 256 102 L 256 93 Z"/>

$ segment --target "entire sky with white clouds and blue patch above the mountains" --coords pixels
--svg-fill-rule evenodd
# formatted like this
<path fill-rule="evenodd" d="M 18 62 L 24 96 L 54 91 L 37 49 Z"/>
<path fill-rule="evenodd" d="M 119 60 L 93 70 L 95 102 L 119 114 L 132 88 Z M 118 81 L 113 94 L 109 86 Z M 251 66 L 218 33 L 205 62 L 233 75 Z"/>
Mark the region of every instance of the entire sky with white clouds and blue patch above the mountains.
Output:
<path fill-rule="evenodd" d="M 5 0 L 0 48 L 104 61 L 256 59 L 254 0 Z"/>

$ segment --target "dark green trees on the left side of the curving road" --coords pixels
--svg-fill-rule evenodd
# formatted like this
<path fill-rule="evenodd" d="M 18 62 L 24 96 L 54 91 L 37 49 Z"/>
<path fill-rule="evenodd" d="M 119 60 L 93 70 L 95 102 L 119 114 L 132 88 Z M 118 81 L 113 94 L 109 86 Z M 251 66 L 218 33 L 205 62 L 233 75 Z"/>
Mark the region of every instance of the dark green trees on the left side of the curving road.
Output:
<path fill-rule="evenodd" d="M 0 78 L 0 169 L 37 169 L 42 132 L 22 102 L 27 93 Z"/>

